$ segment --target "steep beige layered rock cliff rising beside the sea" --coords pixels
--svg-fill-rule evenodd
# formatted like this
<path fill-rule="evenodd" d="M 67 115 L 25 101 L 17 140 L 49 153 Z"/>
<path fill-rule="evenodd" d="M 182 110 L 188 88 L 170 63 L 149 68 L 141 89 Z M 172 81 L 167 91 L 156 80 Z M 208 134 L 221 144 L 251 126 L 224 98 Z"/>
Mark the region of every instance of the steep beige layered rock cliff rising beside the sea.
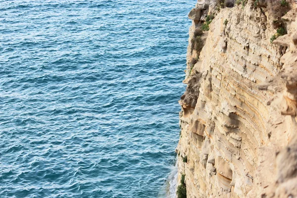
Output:
<path fill-rule="evenodd" d="M 296 3 L 198 0 L 190 12 L 176 149 L 188 198 L 297 197 Z"/>

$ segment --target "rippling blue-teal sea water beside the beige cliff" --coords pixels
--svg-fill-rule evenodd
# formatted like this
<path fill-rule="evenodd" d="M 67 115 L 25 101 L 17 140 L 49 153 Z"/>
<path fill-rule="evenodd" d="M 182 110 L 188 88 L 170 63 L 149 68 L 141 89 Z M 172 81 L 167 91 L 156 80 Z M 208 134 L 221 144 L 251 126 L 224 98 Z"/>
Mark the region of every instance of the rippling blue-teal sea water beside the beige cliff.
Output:
<path fill-rule="evenodd" d="M 196 0 L 0 0 L 0 198 L 166 197 Z"/>

